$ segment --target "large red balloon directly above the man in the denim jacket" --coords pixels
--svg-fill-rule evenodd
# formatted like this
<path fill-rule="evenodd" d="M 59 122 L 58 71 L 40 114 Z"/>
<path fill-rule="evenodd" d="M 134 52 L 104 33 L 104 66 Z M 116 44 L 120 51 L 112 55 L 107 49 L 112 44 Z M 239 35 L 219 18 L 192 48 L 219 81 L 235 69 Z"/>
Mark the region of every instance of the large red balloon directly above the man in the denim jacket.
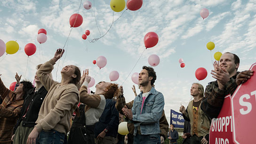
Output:
<path fill-rule="evenodd" d="M 152 48 L 158 43 L 158 35 L 155 32 L 148 32 L 144 36 L 144 44 L 146 48 Z"/>

